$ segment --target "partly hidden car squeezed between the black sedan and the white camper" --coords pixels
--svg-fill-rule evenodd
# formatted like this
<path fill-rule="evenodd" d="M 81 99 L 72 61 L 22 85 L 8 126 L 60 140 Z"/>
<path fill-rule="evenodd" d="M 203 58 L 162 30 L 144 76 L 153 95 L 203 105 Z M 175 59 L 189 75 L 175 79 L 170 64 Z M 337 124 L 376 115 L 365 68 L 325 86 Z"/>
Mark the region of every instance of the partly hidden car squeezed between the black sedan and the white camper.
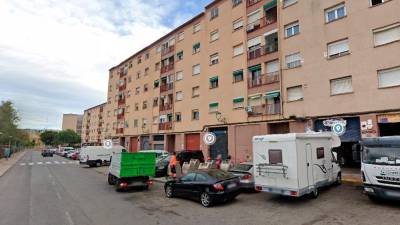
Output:
<path fill-rule="evenodd" d="M 242 162 L 237 164 L 229 172 L 240 179 L 240 188 L 255 190 L 253 162 Z"/>

